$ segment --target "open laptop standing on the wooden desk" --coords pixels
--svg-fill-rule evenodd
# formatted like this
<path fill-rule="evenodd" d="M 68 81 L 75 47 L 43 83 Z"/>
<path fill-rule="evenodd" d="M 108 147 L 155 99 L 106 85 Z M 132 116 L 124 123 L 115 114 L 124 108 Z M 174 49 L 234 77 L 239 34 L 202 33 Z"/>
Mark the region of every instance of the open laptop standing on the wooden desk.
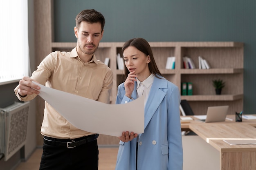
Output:
<path fill-rule="evenodd" d="M 210 106 L 207 109 L 206 115 L 194 115 L 194 117 L 205 123 L 225 121 L 228 109 L 229 106 Z"/>

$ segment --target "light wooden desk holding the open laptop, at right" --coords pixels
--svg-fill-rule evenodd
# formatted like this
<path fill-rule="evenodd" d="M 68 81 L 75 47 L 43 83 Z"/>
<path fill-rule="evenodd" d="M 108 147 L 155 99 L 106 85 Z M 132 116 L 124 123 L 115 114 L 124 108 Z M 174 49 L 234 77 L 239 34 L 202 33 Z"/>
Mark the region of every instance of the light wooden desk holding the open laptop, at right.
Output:
<path fill-rule="evenodd" d="M 228 117 L 232 119 L 232 116 L 234 117 L 234 115 Z M 229 145 L 223 141 L 224 139 L 256 139 L 255 125 L 256 120 L 216 123 L 190 121 L 182 123 L 182 128 L 189 128 L 218 150 L 220 170 L 256 170 L 256 145 Z"/>

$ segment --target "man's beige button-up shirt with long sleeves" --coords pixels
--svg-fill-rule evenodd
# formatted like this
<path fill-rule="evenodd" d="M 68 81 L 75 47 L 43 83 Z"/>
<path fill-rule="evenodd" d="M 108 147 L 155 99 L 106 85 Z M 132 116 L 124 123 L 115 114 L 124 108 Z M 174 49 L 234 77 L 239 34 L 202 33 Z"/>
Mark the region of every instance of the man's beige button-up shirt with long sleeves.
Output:
<path fill-rule="evenodd" d="M 95 55 L 92 56 L 90 62 L 84 63 L 80 60 L 76 48 L 71 52 L 55 51 L 50 53 L 33 72 L 31 78 L 50 88 L 106 104 L 110 103 L 110 91 L 113 84 L 111 69 L 103 62 L 98 61 Z M 36 97 L 36 94 L 20 97 L 18 88 L 19 86 L 14 91 L 20 101 L 29 101 Z M 86 108 L 84 111 L 86 112 Z M 74 139 L 93 133 L 74 127 L 45 102 L 41 134 L 54 138 Z"/>

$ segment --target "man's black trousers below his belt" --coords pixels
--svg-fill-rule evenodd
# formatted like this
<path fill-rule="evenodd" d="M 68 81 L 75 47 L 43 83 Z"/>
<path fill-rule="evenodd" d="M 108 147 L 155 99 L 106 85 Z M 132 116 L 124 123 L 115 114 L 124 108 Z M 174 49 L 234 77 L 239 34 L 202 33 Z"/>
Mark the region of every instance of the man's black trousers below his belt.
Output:
<path fill-rule="evenodd" d="M 98 170 L 97 139 L 75 148 L 43 144 L 39 170 Z"/>

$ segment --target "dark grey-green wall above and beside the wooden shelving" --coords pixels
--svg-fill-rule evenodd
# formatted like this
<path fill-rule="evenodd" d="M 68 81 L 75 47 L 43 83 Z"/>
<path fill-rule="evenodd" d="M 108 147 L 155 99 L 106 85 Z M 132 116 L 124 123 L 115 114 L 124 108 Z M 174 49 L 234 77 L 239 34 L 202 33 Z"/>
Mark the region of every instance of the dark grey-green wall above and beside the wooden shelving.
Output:
<path fill-rule="evenodd" d="M 244 113 L 255 113 L 256 0 L 54 0 L 56 42 L 76 42 L 75 17 L 83 9 L 105 16 L 102 42 L 244 42 Z"/>

